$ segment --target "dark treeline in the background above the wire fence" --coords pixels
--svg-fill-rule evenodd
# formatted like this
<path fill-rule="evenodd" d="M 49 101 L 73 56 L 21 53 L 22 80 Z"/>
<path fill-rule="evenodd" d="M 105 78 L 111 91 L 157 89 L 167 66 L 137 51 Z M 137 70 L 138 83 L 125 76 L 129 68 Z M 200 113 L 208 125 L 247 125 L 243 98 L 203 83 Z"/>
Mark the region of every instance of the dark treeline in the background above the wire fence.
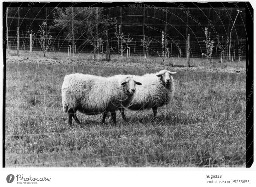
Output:
<path fill-rule="evenodd" d="M 64 8 L 63 8 L 64 9 Z M 74 7 L 74 9 L 79 9 Z M 90 9 L 90 8 L 89 8 Z M 87 9 L 86 11 L 88 11 Z M 228 38 L 233 21 L 236 17 L 236 8 L 149 8 L 149 7 L 105 7 L 100 8 L 104 19 L 115 18 L 115 24 L 122 24 L 122 32 L 124 35 L 130 34 L 133 38 L 141 39 L 143 34 L 146 36 L 157 36 L 161 38 L 161 30 L 166 31 L 170 36 L 185 37 L 190 33 L 191 37 L 204 37 L 204 28 L 208 27 L 209 32 L 213 33 L 213 27 L 218 35 Z M 233 37 L 245 37 L 245 11 L 243 8 L 239 10 L 239 17 L 236 20 L 233 29 Z M 65 36 L 65 29 L 60 27 L 51 27 L 54 25 L 54 14 L 56 16 L 56 8 L 54 7 L 20 7 L 8 8 L 8 29 L 10 32 L 15 31 L 16 27 L 20 27 L 20 31 L 37 32 L 39 24 L 46 21 L 46 30 L 50 29 L 51 35 Z M 80 21 L 87 21 L 86 18 L 76 18 Z M 209 20 L 212 21 L 210 25 Z M 70 22 L 71 20 L 67 20 Z M 108 27 L 109 35 L 114 37 L 115 24 Z M 147 25 L 147 26 L 145 26 Z M 75 25 L 76 27 L 76 25 Z M 155 27 L 155 28 L 154 28 Z M 211 28 L 212 27 L 212 28 Z M 100 30 L 102 29 L 102 30 Z M 104 32 L 105 27 L 99 28 L 99 33 Z M 144 32 L 144 33 L 143 33 Z M 82 35 L 82 33 L 81 33 Z M 84 37 L 88 33 L 83 33 Z M 76 33 L 76 37 L 79 33 Z"/>

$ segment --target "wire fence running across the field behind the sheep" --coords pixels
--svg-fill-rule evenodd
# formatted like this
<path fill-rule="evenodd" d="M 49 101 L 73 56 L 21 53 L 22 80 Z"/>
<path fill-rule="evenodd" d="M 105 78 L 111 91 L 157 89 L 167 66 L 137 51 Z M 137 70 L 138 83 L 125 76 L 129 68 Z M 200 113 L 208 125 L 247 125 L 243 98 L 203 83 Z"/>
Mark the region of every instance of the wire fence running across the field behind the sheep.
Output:
<path fill-rule="evenodd" d="M 44 57 L 42 47 L 39 43 L 39 34 L 30 36 L 31 33 L 28 31 L 19 31 L 19 55 L 32 56 L 32 57 Z M 106 50 L 106 41 L 104 39 L 97 40 L 98 45 L 95 46 L 93 43 L 96 39 L 86 39 L 83 36 L 75 38 L 75 43 L 72 43 L 70 38 L 60 36 L 58 33 L 52 35 L 51 43 L 46 51 L 48 58 L 73 58 L 78 59 L 94 59 L 94 49 L 96 53 L 96 59 L 104 59 Z M 128 35 L 124 35 L 125 38 Z M 147 58 L 155 60 L 158 63 L 170 61 L 174 65 L 185 65 L 187 64 L 187 38 L 180 36 L 167 35 L 164 38 L 164 60 L 159 57 L 163 56 L 163 46 L 161 36 L 146 36 L 146 41 L 151 41 L 148 48 L 142 45 L 143 36 L 130 35 L 132 41 L 126 45 L 125 43 L 119 42 L 115 34 L 109 34 L 109 52 L 111 58 L 123 57 L 125 58 Z M 215 37 L 215 36 L 214 36 Z M 229 44 L 227 38 L 214 38 L 214 47 L 212 50 L 212 62 L 215 63 L 226 63 L 229 66 L 242 66 L 245 67 L 245 39 L 233 39 L 231 41 L 231 52 L 230 60 L 228 59 Z M 190 37 L 189 49 L 190 58 L 193 59 L 193 65 L 198 66 L 206 63 L 207 50 L 205 38 L 202 37 Z M 49 42 L 49 38 L 46 38 L 45 45 Z M 31 48 L 30 48 L 31 47 Z M 8 34 L 8 45 L 6 45 L 7 55 L 17 55 L 17 31 L 10 30 Z M 31 49 L 31 51 L 30 51 Z M 122 49 L 122 50 L 121 50 Z M 119 51 L 119 53 L 118 53 Z M 122 51 L 122 52 L 120 52 Z M 205 54 L 205 55 L 204 55 Z M 123 59 L 121 58 L 121 60 Z M 120 60 L 120 59 L 119 59 Z M 127 59 L 126 59 L 127 60 Z"/>

